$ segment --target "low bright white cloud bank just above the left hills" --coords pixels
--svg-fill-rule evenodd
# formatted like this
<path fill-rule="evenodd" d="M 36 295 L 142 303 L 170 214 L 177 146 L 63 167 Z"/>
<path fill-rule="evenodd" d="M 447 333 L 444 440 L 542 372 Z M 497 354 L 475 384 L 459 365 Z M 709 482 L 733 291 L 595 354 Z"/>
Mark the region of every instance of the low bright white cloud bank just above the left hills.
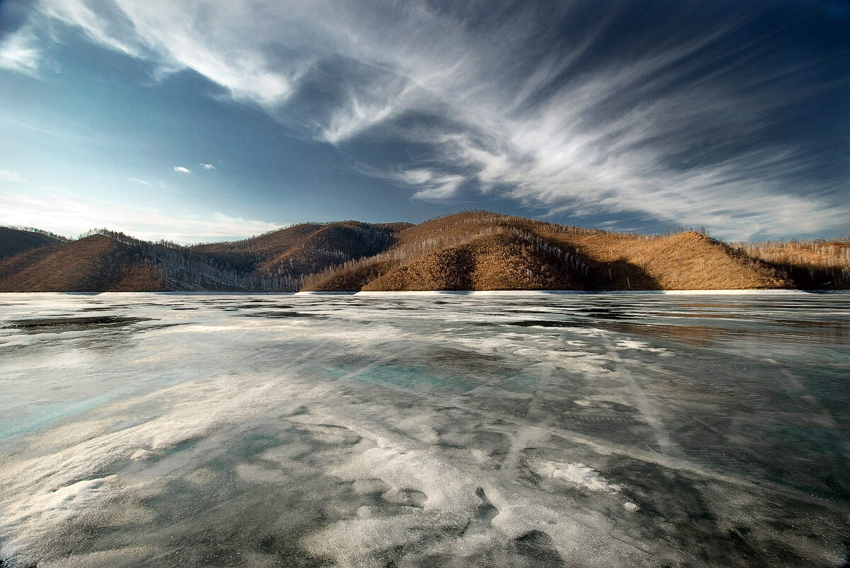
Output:
<path fill-rule="evenodd" d="M 8 192 L 0 193 L 0 224 L 43 228 L 59 234 L 79 234 L 105 227 L 139 239 L 167 239 L 184 244 L 244 239 L 285 226 L 218 212 L 205 215 L 161 211 L 64 194 L 33 196 Z"/>

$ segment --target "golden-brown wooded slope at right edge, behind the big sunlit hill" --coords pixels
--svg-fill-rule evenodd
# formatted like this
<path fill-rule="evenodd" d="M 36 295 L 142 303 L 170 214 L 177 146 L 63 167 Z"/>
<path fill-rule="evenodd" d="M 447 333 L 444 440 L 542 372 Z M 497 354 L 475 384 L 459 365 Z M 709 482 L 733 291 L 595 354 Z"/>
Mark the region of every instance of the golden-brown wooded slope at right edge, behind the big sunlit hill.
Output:
<path fill-rule="evenodd" d="M 850 290 L 850 241 L 742 243 L 736 248 L 787 273 L 796 288 Z"/>

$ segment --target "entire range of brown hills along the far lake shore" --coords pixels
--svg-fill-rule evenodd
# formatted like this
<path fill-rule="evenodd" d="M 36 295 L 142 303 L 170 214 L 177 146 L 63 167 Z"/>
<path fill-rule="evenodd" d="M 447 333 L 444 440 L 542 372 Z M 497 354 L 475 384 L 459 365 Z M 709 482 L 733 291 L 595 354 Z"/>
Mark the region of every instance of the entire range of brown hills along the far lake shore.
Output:
<path fill-rule="evenodd" d="M 207 245 L 0 228 L 0 291 L 836 290 L 850 243 L 727 245 L 486 211 L 419 225 L 303 223 Z"/>

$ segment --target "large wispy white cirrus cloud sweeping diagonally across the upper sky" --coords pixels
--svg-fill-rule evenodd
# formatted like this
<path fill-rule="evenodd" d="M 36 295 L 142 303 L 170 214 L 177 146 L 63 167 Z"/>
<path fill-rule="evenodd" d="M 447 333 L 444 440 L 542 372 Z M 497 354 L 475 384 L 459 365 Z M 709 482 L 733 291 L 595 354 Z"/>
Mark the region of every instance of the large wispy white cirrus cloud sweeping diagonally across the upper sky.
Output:
<path fill-rule="evenodd" d="M 551 20 L 580 18 L 581 9 L 570 12 L 574 4 L 561 4 Z M 416 0 L 92 5 L 52 0 L 42 10 L 96 42 L 154 61 L 163 74 L 195 70 L 233 98 L 306 125 L 337 147 L 366 133 L 428 145 L 433 152 L 412 160 L 407 172 L 396 164 L 361 165 L 422 199 L 449 199 L 479 184 L 553 212 L 637 213 L 705 225 L 730 239 L 827 230 L 850 217 L 847 205 L 811 196 L 828 188 L 789 185 L 807 167 L 804 148 L 689 149 L 705 140 L 733 147 L 763 137 L 789 104 L 786 93 L 771 90 L 769 71 L 747 64 L 751 53 L 742 57 L 740 43 L 721 41 L 746 24 L 740 14 L 588 66 L 582 58 L 610 41 L 609 21 L 623 5 L 575 37 L 561 37 L 567 47 L 533 64 L 516 50 L 534 44 L 541 26 L 522 10 L 468 25 L 462 9 Z M 286 115 L 299 82 L 325 60 L 367 71 L 350 82 L 338 74 L 329 107 Z M 394 126 L 405 115 L 433 118 Z M 684 150 L 700 160 L 682 166 Z"/>

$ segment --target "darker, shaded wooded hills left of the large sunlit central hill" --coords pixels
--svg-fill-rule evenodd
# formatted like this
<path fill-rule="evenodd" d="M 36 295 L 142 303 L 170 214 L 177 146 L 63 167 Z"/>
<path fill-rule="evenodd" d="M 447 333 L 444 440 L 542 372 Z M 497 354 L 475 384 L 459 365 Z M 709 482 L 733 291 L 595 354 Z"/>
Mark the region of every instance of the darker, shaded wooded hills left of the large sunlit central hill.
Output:
<path fill-rule="evenodd" d="M 295 291 L 306 274 L 387 250 L 407 226 L 309 223 L 191 247 L 96 229 L 0 260 L 0 291 Z"/>

